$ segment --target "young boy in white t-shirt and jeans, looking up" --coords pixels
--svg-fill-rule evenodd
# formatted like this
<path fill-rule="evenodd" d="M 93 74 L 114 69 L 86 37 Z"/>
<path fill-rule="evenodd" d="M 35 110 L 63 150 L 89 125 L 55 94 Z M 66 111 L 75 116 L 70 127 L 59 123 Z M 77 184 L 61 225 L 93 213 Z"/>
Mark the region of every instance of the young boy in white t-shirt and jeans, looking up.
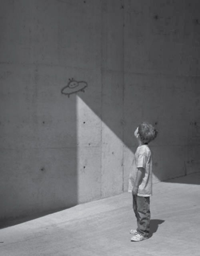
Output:
<path fill-rule="evenodd" d="M 133 210 L 138 228 L 131 229 L 131 241 L 139 242 L 147 239 L 150 231 L 150 196 L 152 195 L 152 156 L 148 143 L 155 139 L 156 129 L 142 123 L 134 132 L 138 140 L 138 148 L 130 171 L 128 192 L 132 192 Z"/>

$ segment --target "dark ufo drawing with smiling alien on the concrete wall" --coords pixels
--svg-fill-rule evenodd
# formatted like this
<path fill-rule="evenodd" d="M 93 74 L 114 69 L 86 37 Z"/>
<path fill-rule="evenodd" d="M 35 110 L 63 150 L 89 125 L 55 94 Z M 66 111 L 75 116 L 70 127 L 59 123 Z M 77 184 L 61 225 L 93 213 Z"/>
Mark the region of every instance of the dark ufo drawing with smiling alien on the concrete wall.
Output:
<path fill-rule="evenodd" d="M 88 86 L 88 84 L 84 81 L 76 81 L 74 78 L 69 79 L 69 82 L 66 86 L 64 86 L 61 90 L 62 94 L 65 94 L 70 97 L 70 94 L 77 92 L 85 92 L 84 89 Z"/>

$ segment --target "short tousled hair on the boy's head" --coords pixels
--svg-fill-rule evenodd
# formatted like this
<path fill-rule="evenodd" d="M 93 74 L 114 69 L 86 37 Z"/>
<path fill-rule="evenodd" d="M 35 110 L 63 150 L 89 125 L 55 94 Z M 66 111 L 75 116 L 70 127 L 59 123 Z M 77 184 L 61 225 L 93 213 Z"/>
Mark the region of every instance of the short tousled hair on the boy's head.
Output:
<path fill-rule="evenodd" d="M 149 123 L 143 122 L 138 126 L 138 133 L 140 134 L 141 141 L 144 144 L 148 144 L 156 138 L 158 131 Z"/>

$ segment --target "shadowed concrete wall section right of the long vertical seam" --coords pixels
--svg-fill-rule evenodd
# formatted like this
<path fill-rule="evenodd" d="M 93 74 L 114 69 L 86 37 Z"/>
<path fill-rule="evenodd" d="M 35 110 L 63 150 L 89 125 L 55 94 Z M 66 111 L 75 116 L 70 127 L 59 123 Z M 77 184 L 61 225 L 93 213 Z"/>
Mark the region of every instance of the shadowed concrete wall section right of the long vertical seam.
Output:
<path fill-rule="evenodd" d="M 124 142 L 135 150 L 131 129 L 143 120 L 158 128 L 154 182 L 200 170 L 199 11 L 199 1 L 125 6 Z"/>

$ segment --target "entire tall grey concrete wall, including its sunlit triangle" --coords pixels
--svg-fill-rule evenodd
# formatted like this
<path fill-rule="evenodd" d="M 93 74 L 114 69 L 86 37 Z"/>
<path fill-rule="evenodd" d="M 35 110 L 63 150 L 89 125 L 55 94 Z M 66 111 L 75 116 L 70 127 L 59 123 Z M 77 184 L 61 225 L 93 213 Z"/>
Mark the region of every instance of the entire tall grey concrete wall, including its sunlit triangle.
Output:
<path fill-rule="evenodd" d="M 154 182 L 197 170 L 199 10 L 198 1 L 3 1 L 1 219 L 126 191 L 143 120 L 159 130 Z M 72 78 L 87 87 L 62 94 Z"/>

